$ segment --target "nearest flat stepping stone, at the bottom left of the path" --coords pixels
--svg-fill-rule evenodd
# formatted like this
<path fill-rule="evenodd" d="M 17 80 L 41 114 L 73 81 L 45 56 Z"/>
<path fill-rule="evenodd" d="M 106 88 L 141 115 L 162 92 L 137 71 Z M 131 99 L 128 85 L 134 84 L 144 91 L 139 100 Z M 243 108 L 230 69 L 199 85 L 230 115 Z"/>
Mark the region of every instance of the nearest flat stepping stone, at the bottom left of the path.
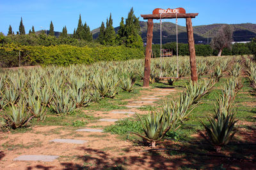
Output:
<path fill-rule="evenodd" d="M 21 155 L 13 160 L 52 162 L 55 159 L 58 159 L 58 157 L 59 156 L 54 155 Z"/>

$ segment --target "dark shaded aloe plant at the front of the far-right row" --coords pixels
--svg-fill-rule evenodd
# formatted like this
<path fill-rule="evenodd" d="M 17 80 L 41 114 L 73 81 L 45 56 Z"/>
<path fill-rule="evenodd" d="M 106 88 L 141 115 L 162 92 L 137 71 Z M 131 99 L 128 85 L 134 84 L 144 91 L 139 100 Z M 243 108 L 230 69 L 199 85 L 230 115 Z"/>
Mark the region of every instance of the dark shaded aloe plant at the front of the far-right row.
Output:
<path fill-rule="evenodd" d="M 209 139 L 204 134 L 201 133 L 201 135 L 216 148 L 216 152 L 220 152 L 221 147 L 227 145 L 236 134 L 237 130 L 234 129 L 234 125 L 238 120 L 235 120 L 233 113 L 228 114 L 227 117 L 218 117 L 217 120 L 215 118 L 207 118 L 207 120 L 209 125 L 200 122 Z"/>

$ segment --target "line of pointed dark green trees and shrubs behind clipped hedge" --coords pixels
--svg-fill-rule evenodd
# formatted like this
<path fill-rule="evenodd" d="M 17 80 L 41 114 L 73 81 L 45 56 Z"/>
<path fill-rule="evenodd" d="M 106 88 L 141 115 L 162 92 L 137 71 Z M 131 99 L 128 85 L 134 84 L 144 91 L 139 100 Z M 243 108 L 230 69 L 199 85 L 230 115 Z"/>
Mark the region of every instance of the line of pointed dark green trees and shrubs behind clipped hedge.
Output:
<path fill-rule="evenodd" d="M 74 46 L 95 46 L 96 44 L 100 44 L 106 46 L 124 45 L 126 47 L 140 48 L 143 50 L 143 41 L 140 36 L 139 18 L 134 15 L 133 8 L 131 8 L 129 11 L 126 19 L 122 17 L 118 32 L 115 32 L 113 27 L 113 19 L 110 13 L 109 18 L 106 20 L 106 26 L 104 22 L 102 22 L 97 39 L 93 39 L 89 25 L 87 25 L 86 22 L 84 22 L 84 24 L 82 23 L 81 15 L 79 15 L 77 28 L 74 29 L 73 34 L 70 35 L 67 34 L 67 27 L 64 26 L 60 35 L 56 36 L 54 34 L 54 25 L 52 21 L 49 31 L 42 30 L 40 34 L 36 34 L 35 27 L 32 26 L 32 28 L 29 29 L 29 33 L 26 34 L 21 17 L 19 31 L 17 31 L 15 34 L 12 30 L 12 26 L 10 25 L 7 36 L 5 37 L 2 33 L 1 37 L 0 43 L 2 43 L 2 45 L 3 43 L 18 43 L 20 45 L 32 46 L 62 44 Z"/>

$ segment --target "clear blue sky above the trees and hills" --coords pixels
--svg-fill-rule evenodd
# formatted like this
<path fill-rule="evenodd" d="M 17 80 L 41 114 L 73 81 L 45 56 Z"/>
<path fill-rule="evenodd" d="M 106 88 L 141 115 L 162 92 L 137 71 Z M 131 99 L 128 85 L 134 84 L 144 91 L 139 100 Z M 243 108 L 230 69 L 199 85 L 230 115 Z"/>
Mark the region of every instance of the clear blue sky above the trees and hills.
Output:
<path fill-rule="evenodd" d="M 68 33 L 73 33 L 77 27 L 79 14 L 83 23 L 86 22 L 90 29 L 100 27 L 101 22 L 106 22 L 109 13 L 112 13 L 113 26 L 119 25 L 121 17 L 126 18 L 129 10 L 134 8 L 136 17 L 141 14 L 150 14 L 155 8 L 182 7 L 187 13 L 199 13 L 192 20 L 193 25 L 207 24 L 256 24 L 255 0 L 0 0 L 0 32 L 7 34 L 9 25 L 13 31 L 19 31 L 20 17 L 22 17 L 26 33 L 32 25 L 35 31 L 49 29 L 50 23 L 54 31 L 62 31 L 67 26 Z M 140 20 L 143 18 L 140 17 Z M 175 20 L 165 20 L 175 22 Z M 157 21 L 154 21 L 157 22 Z M 186 25 L 184 19 L 179 19 L 179 25 Z"/>

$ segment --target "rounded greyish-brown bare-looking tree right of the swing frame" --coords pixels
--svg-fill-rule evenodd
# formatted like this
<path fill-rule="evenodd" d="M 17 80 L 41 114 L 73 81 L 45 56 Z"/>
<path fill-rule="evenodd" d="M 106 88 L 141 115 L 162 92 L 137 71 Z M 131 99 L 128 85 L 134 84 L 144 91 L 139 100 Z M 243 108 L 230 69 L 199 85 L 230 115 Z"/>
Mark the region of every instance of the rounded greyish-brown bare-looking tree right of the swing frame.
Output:
<path fill-rule="evenodd" d="M 223 48 L 231 48 L 233 31 L 229 25 L 223 25 L 216 36 L 211 40 L 213 49 L 218 50 L 218 56 L 221 56 Z"/>

